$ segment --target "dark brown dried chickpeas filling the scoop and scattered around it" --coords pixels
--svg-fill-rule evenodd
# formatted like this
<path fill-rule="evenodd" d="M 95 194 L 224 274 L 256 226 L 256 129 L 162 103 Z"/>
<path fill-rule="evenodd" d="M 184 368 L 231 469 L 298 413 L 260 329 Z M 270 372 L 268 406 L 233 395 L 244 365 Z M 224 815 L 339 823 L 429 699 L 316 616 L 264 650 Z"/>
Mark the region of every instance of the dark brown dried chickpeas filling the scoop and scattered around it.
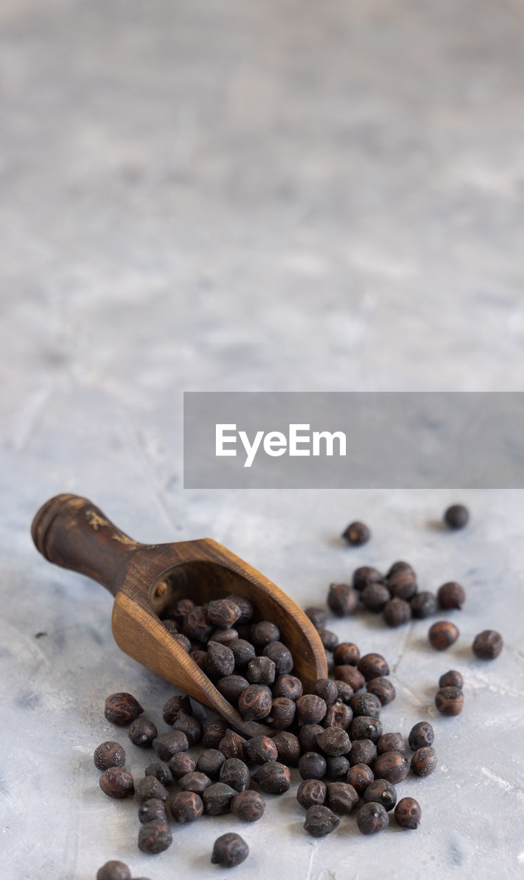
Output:
<path fill-rule="evenodd" d="M 362 525 L 351 524 L 344 536 L 351 543 L 364 543 Z M 357 568 L 351 584 L 331 584 L 327 604 L 336 616 L 345 617 L 361 603 L 370 612 L 382 612 L 390 626 L 398 626 L 411 617 L 428 617 L 438 608 L 460 609 L 464 600 L 458 583 L 444 584 L 436 596 L 418 591 L 414 569 L 398 561 L 385 576 L 376 568 Z M 290 788 L 292 767 L 301 778 L 297 801 L 306 810 L 304 828 L 314 837 L 335 831 L 339 817 L 350 812 L 355 812 L 363 834 L 386 828 L 390 815 L 403 828 L 418 827 L 419 804 L 409 796 L 397 801 L 395 786 L 410 772 L 425 777 L 435 770 L 432 725 L 421 721 L 413 727 L 408 757 L 402 735 L 385 731 L 380 721 L 382 709 L 395 700 L 387 660 L 376 653 L 361 656 L 354 642 L 339 643 L 326 628 L 325 609 L 307 608 L 306 615 L 320 635 L 331 675 L 316 681 L 310 693 L 292 674 L 292 653 L 281 642 L 278 627 L 268 620 L 254 622 L 255 609 L 243 596 L 204 605 L 183 598 L 163 620 L 225 699 L 246 721 L 267 725 L 268 735 L 246 739 L 220 719 L 203 726 L 183 695 L 167 700 L 162 709 L 167 730 L 159 731 L 131 694 L 107 697 L 107 721 L 128 727 L 130 742 L 155 755 L 144 777 L 136 781 L 125 767 L 122 744 L 107 741 L 94 753 L 95 766 L 102 771 L 100 788 L 114 798 L 135 796 L 138 847 L 143 852 L 159 853 L 171 845 L 171 820 L 185 824 L 205 815 L 231 813 L 256 822 L 265 810 L 263 794 L 282 795 Z M 439 621 L 429 637 L 436 649 L 446 649 L 457 636 L 454 624 Z M 483 659 L 498 656 L 501 649 L 500 635 L 491 630 L 477 635 L 473 645 L 475 655 Z M 443 715 L 459 715 L 459 672 L 440 677 L 435 705 Z M 247 854 L 247 843 L 228 832 L 216 840 L 211 862 L 233 867 Z M 129 878 L 122 862 L 107 862 L 98 876 Z"/>

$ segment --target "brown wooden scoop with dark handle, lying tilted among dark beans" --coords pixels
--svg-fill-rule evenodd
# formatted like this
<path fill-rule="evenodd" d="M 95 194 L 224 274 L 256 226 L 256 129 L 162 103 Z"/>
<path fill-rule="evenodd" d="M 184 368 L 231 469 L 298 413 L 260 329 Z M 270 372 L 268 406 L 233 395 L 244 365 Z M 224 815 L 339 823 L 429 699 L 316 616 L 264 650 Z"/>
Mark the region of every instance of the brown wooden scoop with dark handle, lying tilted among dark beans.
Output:
<path fill-rule="evenodd" d="M 328 674 L 313 624 L 282 590 L 217 541 L 138 544 L 77 495 L 56 495 L 33 519 L 35 546 L 50 562 L 92 577 L 114 596 L 114 639 L 126 654 L 222 715 L 247 736 L 274 733 L 246 722 L 169 633 L 160 616 L 181 598 L 196 605 L 231 594 L 249 598 L 255 620 L 277 624 L 305 688 Z"/>

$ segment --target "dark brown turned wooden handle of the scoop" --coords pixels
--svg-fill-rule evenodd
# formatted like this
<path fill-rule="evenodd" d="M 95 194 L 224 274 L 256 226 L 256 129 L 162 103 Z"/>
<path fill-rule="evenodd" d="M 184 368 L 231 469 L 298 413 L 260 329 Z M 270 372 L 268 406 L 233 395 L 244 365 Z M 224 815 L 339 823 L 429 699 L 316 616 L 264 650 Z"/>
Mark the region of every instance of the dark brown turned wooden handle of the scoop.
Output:
<path fill-rule="evenodd" d="M 79 495 L 55 495 L 33 519 L 34 544 L 49 562 L 92 577 L 116 596 L 138 544 Z"/>

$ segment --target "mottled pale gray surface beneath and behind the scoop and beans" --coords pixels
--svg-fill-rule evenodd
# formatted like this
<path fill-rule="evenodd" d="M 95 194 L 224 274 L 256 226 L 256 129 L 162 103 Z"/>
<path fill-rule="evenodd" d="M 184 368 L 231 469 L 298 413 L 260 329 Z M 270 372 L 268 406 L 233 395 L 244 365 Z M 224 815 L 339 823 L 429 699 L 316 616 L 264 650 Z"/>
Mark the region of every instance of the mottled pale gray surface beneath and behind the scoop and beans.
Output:
<path fill-rule="evenodd" d="M 522 876 L 521 492 L 183 491 L 182 392 L 521 391 L 524 4 L 520 0 L 4 0 L 0 6 L 0 382 L 4 515 L 0 876 L 292 880 Z M 345 818 L 306 838 L 293 796 L 256 825 L 203 819 L 158 857 L 134 803 L 100 793 L 107 693 L 153 719 L 171 689 L 123 656 L 111 599 L 28 536 L 59 491 L 133 537 L 210 535 L 300 604 L 363 562 L 464 583 L 446 656 L 425 623 L 333 624 L 394 670 L 389 730 L 435 722 L 439 768 L 400 793 L 418 832 Z M 361 517 L 360 551 L 337 535 Z M 483 627 L 494 664 L 471 659 Z M 35 634 L 45 632 L 39 639 Z M 466 708 L 435 718 L 442 671 Z M 129 744 L 129 766 L 149 761 Z"/>

